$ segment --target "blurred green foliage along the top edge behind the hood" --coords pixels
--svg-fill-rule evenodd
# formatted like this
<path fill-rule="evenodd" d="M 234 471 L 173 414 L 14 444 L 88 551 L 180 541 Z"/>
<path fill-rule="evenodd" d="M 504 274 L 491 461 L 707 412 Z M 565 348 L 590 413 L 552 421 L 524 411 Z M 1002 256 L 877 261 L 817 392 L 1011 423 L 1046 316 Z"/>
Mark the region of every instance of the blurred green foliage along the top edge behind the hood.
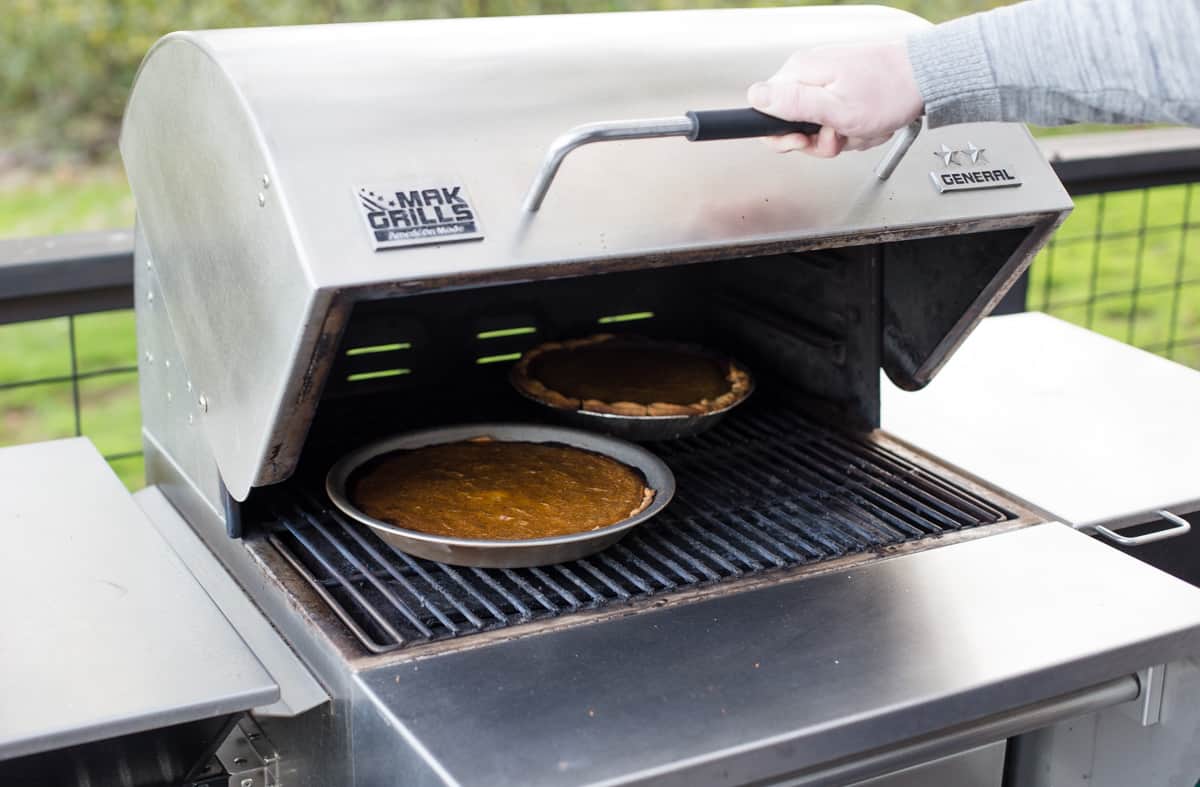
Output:
<path fill-rule="evenodd" d="M 838 0 L 826 0 L 839 4 Z M 0 151 L 23 157 L 115 152 L 125 97 L 142 56 L 172 30 L 365 19 L 508 16 L 806 0 L 5 0 L 0 12 Z M 893 0 L 929 19 L 1001 0 Z"/>

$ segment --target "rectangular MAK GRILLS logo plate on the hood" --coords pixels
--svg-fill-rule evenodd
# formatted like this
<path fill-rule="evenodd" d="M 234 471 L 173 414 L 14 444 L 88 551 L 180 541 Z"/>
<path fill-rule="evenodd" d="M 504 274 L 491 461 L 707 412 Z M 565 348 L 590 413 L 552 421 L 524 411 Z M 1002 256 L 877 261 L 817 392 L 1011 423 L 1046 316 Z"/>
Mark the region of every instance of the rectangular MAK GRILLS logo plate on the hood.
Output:
<path fill-rule="evenodd" d="M 376 251 L 484 236 L 467 187 L 455 179 L 407 179 L 354 190 Z"/>

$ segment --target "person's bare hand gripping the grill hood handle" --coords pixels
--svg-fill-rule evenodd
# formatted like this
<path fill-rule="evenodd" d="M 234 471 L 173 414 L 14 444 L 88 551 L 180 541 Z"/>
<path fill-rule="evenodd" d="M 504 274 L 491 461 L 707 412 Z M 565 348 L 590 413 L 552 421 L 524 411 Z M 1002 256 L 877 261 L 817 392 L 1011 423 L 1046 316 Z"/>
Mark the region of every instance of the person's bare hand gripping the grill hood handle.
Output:
<path fill-rule="evenodd" d="M 904 41 L 797 52 L 770 79 L 750 85 L 746 98 L 768 115 L 820 124 L 812 136 L 766 139 L 779 152 L 824 158 L 883 144 L 925 108 Z"/>

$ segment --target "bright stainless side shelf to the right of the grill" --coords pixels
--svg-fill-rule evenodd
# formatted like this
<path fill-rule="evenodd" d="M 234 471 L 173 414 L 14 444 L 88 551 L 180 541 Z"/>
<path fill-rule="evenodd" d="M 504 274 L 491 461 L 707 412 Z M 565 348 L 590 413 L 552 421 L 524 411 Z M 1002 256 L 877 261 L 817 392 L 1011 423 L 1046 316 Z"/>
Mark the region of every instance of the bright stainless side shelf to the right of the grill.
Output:
<path fill-rule="evenodd" d="M 984 320 L 882 402 L 888 433 L 1075 528 L 1200 510 L 1200 372 L 1046 314 Z"/>

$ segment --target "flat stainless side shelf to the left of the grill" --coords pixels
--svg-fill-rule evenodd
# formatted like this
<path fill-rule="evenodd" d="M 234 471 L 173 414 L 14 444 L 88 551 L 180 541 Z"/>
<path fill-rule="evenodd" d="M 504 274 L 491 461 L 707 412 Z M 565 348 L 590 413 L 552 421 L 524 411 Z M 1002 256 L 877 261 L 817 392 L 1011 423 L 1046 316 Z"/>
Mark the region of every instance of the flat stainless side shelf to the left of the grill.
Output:
<path fill-rule="evenodd" d="M 280 689 L 83 438 L 0 449 L 0 759 Z"/>

